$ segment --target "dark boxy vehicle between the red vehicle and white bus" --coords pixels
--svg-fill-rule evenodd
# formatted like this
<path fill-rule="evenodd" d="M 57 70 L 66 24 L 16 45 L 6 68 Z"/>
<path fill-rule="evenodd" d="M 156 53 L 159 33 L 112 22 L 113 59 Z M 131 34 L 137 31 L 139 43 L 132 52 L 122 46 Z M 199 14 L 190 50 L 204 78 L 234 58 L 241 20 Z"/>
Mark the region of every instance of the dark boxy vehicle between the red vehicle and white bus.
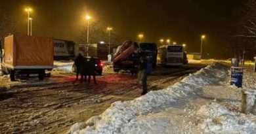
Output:
<path fill-rule="evenodd" d="M 157 57 L 158 57 L 158 46 L 156 43 L 152 42 L 142 42 L 140 43 L 140 56 L 150 57 L 153 63 L 153 67 L 156 67 Z"/>

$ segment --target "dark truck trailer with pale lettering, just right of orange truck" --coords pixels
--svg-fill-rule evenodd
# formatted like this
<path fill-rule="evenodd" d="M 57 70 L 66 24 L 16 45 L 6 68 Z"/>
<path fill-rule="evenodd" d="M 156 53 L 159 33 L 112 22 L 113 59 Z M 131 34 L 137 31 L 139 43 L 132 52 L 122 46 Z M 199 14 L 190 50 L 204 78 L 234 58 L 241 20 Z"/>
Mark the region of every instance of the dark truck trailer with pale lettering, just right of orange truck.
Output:
<path fill-rule="evenodd" d="M 75 42 L 54 39 L 54 60 L 75 58 Z"/>

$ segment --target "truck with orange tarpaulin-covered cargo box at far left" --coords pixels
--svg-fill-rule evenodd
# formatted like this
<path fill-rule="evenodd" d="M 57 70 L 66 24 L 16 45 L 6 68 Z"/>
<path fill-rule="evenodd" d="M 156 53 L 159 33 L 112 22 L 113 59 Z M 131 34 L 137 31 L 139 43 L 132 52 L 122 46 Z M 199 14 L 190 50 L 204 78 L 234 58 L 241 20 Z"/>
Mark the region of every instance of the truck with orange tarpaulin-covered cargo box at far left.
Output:
<path fill-rule="evenodd" d="M 54 39 L 27 35 L 9 35 L 4 41 L 5 53 L 1 69 L 12 81 L 16 75 L 38 74 L 45 78 L 45 70 L 53 69 Z"/>

